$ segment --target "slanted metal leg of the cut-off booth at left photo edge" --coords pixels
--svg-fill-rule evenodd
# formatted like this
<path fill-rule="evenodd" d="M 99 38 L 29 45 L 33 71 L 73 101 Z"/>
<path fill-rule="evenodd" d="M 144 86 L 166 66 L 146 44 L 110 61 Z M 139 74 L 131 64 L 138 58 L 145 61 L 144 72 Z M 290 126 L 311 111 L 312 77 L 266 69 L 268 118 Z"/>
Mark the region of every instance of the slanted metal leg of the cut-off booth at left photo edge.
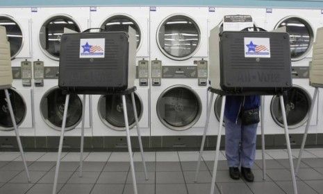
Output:
<path fill-rule="evenodd" d="M 24 154 L 24 150 L 22 149 L 22 141 L 20 141 L 19 131 L 18 131 L 16 120 L 15 120 L 15 114 L 13 113 L 13 106 L 11 105 L 8 89 L 5 89 L 4 93 L 6 95 L 11 121 L 13 122 L 13 127 L 15 128 L 15 134 L 17 137 L 18 147 L 19 147 L 20 154 L 22 155 L 22 161 L 24 163 L 24 168 L 26 170 L 28 182 L 31 182 L 31 177 L 29 176 L 29 171 L 28 171 L 28 167 L 27 167 L 27 163 L 26 163 L 26 156 Z"/>

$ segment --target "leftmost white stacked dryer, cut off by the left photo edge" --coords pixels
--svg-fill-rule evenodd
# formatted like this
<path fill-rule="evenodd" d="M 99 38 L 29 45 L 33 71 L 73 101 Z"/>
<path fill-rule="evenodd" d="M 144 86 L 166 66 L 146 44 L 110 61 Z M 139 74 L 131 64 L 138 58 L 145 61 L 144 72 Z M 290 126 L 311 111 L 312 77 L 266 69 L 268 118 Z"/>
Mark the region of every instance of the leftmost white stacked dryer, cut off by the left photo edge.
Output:
<path fill-rule="evenodd" d="M 6 27 L 13 67 L 13 88 L 9 90 L 15 119 L 21 136 L 35 136 L 33 126 L 33 87 L 23 86 L 21 62 L 31 60 L 31 9 L 0 8 L 0 25 Z M 30 63 L 29 63 L 30 64 Z M 31 73 L 31 71 L 29 71 Z M 31 74 L 24 75 L 31 76 Z M 0 136 L 15 136 L 4 91 L 0 91 Z M 13 140 L 13 141 L 10 141 Z M 15 137 L 3 139 L 2 145 L 16 144 Z"/>

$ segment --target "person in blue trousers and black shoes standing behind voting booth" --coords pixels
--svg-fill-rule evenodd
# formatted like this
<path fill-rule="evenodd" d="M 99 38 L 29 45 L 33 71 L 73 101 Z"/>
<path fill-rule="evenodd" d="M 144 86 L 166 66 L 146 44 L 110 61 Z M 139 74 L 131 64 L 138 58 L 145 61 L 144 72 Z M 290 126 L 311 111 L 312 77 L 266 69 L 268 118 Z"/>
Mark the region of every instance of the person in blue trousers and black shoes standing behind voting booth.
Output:
<path fill-rule="evenodd" d="M 256 155 L 260 96 L 226 96 L 224 122 L 226 159 L 232 179 L 254 182 L 251 167 Z"/>

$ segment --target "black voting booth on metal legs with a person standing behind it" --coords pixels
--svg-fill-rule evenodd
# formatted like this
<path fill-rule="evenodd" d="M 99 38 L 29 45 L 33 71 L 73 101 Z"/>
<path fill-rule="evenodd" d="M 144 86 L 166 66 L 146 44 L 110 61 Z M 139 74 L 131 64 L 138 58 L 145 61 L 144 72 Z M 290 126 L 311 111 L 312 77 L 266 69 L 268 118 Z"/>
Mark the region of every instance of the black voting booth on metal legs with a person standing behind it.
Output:
<path fill-rule="evenodd" d="M 217 26 L 210 31 L 209 53 L 210 87 L 208 91 L 210 92 L 210 101 L 208 102 L 206 125 L 204 127 L 204 136 L 194 181 L 197 182 L 214 94 L 222 96 L 222 106 L 210 194 L 213 194 L 215 189 L 226 96 L 277 95 L 280 98 L 283 115 L 292 184 L 294 193 L 297 194 L 288 125 L 283 102 L 284 92 L 292 87 L 290 37 L 288 33 L 250 31 L 224 31 L 220 33 L 220 28 Z M 261 101 L 263 179 L 265 179 L 263 97 Z"/>

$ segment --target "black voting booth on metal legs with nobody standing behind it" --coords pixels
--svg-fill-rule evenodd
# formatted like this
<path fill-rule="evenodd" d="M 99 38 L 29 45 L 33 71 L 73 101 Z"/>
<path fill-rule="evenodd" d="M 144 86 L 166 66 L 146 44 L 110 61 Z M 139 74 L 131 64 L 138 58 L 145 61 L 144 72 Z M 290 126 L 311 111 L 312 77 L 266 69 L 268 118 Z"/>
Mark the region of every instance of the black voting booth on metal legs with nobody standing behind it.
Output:
<path fill-rule="evenodd" d="M 60 155 L 63 147 L 63 138 L 67 109 L 70 94 L 83 94 L 83 112 L 81 129 L 81 153 L 80 173 L 82 176 L 83 141 L 84 141 L 84 114 L 85 94 L 117 95 L 122 98 L 124 110 L 124 121 L 126 125 L 126 137 L 128 143 L 131 173 L 133 178 L 133 191 L 138 193 L 135 182 L 135 170 L 133 166 L 133 155 L 131 150 L 131 139 L 129 133 L 129 121 L 126 107 L 125 95 L 130 94 L 133 103 L 133 114 L 138 131 L 138 140 L 144 166 L 146 179 L 147 169 L 144 161 L 140 128 L 138 125 L 137 110 L 135 107 L 135 30 L 129 27 L 129 33 L 124 32 L 97 32 L 97 33 L 65 33 L 61 37 L 60 44 L 60 67 L 58 86 L 66 94 L 65 109 L 63 116 L 60 144 L 58 148 L 58 159 L 56 173 L 53 183 L 53 194 L 56 194 L 58 172 L 60 166 Z"/>

